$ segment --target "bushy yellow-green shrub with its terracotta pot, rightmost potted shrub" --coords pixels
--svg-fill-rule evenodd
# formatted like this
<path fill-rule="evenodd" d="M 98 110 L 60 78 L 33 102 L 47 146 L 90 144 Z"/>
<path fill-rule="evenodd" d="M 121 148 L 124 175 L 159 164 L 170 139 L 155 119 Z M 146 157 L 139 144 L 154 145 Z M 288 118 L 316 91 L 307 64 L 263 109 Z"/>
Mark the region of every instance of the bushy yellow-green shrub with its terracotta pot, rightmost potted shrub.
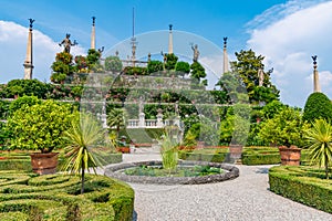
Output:
<path fill-rule="evenodd" d="M 307 128 L 309 125 L 302 119 L 301 112 L 286 107 L 262 124 L 258 136 L 279 146 L 281 165 L 299 166 L 301 147 L 304 145 L 303 130 Z"/>

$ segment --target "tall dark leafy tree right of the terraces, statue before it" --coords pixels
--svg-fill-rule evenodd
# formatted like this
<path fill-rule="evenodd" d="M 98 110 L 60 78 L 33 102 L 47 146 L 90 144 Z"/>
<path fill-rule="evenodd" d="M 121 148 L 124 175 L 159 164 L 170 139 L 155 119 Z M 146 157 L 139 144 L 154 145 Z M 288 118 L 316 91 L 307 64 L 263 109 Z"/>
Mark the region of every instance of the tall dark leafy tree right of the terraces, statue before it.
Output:
<path fill-rule="evenodd" d="M 263 56 L 256 55 L 252 50 L 236 52 L 237 61 L 231 63 L 232 71 L 239 74 L 251 103 L 269 103 L 279 97 L 279 91 L 271 83 L 271 72 L 263 72 L 262 88 L 259 87 L 258 71 L 263 71 Z"/>

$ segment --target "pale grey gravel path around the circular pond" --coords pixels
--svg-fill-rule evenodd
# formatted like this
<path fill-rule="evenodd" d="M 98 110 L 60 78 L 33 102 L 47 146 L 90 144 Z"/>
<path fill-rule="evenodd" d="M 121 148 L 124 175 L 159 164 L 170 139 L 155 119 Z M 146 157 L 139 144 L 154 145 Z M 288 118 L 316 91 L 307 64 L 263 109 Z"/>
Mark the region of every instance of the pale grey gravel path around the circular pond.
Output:
<path fill-rule="evenodd" d="M 124 155 L 124 161 L 159 159 Z M 332 221 L 332 214 L 293 202 L 268 190 L 271 166 L 237 166 L 240 177 L 219 183 L 156 186 L 129 183 L 138 221 Z"/>

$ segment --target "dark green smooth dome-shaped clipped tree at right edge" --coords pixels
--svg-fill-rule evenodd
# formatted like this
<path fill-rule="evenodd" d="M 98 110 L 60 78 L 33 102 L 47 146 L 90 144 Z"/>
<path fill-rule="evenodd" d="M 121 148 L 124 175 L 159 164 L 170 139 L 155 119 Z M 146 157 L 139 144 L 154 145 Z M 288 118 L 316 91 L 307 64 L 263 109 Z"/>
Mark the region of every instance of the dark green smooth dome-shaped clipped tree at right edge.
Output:
<path fill-rule="evenodd" d="M 313 123 L 318 118 L 332 120 L 332 104 L 326 95 L 314 92 L 305 102 L 303 119 Z"/>

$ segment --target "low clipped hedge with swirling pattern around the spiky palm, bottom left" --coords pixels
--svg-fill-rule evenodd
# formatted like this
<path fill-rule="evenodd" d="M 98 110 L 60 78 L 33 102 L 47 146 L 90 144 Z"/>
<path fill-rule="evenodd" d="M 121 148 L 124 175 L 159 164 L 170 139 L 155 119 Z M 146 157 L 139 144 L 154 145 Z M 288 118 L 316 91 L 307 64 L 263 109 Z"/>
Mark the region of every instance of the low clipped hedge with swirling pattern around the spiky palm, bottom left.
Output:
<path fill-rule="evenodd" d="M 1 220 L 122 220 L 131 221 L 133 189 L 118 180 L 79 176 L 0 171 Z"/>

